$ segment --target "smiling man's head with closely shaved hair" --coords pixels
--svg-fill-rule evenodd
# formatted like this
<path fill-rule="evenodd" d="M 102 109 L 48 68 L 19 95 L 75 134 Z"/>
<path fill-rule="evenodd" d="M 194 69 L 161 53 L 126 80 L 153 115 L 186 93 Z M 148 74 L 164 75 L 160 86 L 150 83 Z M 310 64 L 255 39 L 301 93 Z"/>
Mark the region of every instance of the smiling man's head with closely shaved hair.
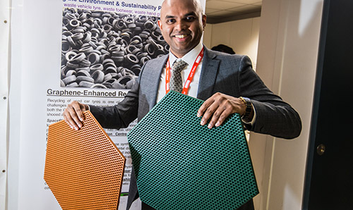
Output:
<path fill-rule="evenodd" d="M 158 25 L 172 54 L 181 58 L 200 43 L 206 16 L 199 0 L 164 0 Z"/>

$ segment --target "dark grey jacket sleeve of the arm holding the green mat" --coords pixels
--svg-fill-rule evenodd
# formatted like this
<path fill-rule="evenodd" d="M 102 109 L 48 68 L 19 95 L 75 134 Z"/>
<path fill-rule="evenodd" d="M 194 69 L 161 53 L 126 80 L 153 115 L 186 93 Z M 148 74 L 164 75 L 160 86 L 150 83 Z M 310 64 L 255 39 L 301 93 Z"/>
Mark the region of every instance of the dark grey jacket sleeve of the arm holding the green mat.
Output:
<path fill-rule="evenodd" d="M 249 130 L 286 139 L 299 136 L 299 114 L 264 85 L 247 56 L 241 59 L 238 78 L 240 96 L 251 99 L 256 110 L 256 122 Z"/>

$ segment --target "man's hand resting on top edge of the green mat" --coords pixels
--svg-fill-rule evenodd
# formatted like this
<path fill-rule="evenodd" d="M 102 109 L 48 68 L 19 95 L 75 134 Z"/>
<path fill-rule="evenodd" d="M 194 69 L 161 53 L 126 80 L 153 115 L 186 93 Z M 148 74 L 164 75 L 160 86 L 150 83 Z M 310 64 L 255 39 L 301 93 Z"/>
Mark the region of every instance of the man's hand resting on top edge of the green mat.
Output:
<path fill-rule="evenodd" d="M 217 92 L 203 102 L 198 109 L 198 117 L 203 116 L 201 125 L 205 125 L 210 120 L 208 128 L 213 128 L 213 126 L 222 125 L 232 113 L 244 115 L 245 109 L 246 106 L 241 99 Z"/>

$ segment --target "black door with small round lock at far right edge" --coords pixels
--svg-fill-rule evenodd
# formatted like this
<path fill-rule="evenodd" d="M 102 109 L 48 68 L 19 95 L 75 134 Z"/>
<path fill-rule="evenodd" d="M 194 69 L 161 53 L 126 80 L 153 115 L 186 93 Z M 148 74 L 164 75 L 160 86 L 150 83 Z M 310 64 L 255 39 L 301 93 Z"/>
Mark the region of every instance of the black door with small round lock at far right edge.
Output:
<path fill-rule="evenodd" d="M 303 209 L 353 209 L 353 1 L 324 1 Z"/>

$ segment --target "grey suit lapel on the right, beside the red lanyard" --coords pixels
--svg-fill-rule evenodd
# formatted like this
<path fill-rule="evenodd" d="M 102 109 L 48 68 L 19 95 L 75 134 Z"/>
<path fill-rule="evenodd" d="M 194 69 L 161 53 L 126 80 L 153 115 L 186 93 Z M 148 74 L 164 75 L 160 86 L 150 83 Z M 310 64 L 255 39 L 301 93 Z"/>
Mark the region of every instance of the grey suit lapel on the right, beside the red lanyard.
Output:
<path fill-rule="evenodd" d="M 203 56 L 201 75 L 198 82 L 197 98 L 205 101 L 213 94 L 213 87 L 215 86 L 220 61 L 216 59 L 216 55 L 213 54 L 212 51 L 207 48 L 204 49 L 205 55 Z"/>

